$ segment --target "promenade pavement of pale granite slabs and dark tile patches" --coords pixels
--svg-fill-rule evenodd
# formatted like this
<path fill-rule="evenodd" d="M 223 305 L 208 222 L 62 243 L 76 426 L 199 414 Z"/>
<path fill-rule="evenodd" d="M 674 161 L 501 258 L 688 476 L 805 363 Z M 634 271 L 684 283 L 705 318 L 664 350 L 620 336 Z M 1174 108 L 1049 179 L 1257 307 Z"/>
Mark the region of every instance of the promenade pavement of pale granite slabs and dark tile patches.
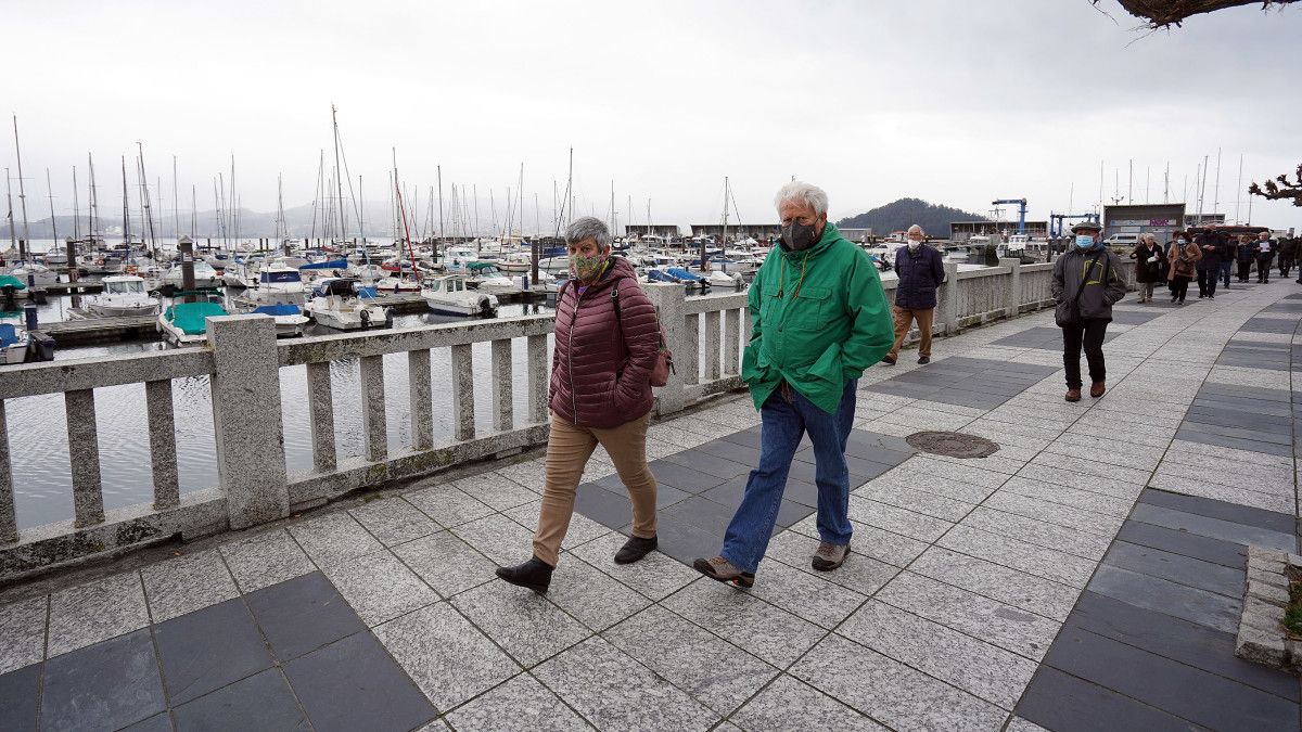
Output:
<path fill-rule="evenodd" d="M 1117 306 L 1099 400 L 1062 400 L 1051 311 L 870 369 L 836 572 L 807 451 L 753 590 L 685 564 L 758 455 L 725 397 L 651 429 L 638 564 L 594 456 L 546 597 L 492 573 L 529 556 L 536 452 L 10 587 L 0 728 L 1295 731 L 1297 679 L 1233 650 L 1247 544 L 1297 551 L 1302 287 L 1160 294 Z M 1000 449 L 902 439 L 936 430 Z"/>

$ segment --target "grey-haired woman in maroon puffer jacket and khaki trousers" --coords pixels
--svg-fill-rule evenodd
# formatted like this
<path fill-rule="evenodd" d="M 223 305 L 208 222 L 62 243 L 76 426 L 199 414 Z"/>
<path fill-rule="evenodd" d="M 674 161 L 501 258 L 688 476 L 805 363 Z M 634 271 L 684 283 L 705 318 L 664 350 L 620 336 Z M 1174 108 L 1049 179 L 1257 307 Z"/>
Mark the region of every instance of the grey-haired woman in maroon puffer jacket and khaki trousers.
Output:
<path fill-rule="evenodd" d="M 660 324 L 628 259 L 611 255 L 611 232 L 600 219 L 572 223 L 565 244 L 572 279 L 556 298 L 551 435 L 534 556 L 497 569 L 503 580 L 538 593 L 551 584 L 574 491 L 598 444 L 633 499 L 633 537 L 615 561 L 629 564 L 656 548 L 656 483 L 646 438 Z"/>

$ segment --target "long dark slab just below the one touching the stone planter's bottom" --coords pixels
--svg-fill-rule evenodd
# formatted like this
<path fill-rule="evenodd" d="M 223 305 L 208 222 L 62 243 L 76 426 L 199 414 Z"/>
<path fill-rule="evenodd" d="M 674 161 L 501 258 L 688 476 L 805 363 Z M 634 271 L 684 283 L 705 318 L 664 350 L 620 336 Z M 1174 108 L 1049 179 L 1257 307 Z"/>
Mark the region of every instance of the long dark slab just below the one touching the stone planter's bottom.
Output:
<path fill-rule="evenodd" d="M 1213 729 L 1295 729 L 1299 722 L 1294 702 L 1070 625 L 1044 663 Z"/>

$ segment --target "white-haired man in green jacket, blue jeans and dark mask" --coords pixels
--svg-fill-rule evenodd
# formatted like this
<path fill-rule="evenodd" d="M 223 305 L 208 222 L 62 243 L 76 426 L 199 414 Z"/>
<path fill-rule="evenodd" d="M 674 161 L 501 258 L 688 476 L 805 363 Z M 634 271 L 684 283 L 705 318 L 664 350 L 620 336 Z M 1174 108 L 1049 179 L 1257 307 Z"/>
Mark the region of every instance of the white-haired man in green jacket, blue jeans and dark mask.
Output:
<path fill-rule="evenodd" d="M 750 285 L 750 344 L 742 379 L 762 417 L 759 466 L 728 525 L 723 551 L 693 563 L 721 582 L 750 587 L 768 548 L 792 458 L 805 432 L 814 443 L 820 543 L 814 569 L 850 552 L 850 473 L 845 443 L 863 370 L 894 343 L 876 267 L 827 220 L 827 194 L 790 182 L 773 203 L 783 240 Z"/>

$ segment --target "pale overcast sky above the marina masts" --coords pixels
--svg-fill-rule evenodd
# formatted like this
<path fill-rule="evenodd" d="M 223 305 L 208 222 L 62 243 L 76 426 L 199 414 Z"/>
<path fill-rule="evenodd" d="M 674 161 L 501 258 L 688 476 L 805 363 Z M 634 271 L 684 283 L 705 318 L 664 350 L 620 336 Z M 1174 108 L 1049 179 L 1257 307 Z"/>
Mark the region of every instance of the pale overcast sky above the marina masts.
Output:
<path fill-rule="evenodd" d="M 1163 201 L 1168 162 L 1182 199 L 1204 155 L 1204 211 L 1234 220 L 1238 198 L 1246 220 L 1240 155 L 1245 189 L 1302 163 L 1302 9 L 1144 36 L 1103 7 L 1116 22 L 1087 0 L 4 3 L 3 98 L 31 220 L 46 167 L 72 212 L 87 152 L 120 211 L 137 139 L 167 199 L 177 156 L 182 208 L 194 184 L 211 210 L 232 154 L 243 207 L 273 210 L 277 173 L 286 206 L 310 203 L 332 102 L 368 219 L 396 147 L 405 182 L 424 191 L 441 164 L 445 198 L 477 185 L 486 219 L 523 163 L 531 228 L 573 146 L 578 212 L 604 218 L 613 180 L 620 223 L 629 197 L 634 223 L 648 199 L 658 221 L 717 221 L 724 176 L 747 221 L 773 219 L 792 176 L 827 189 L 833 219 L 901 197 L 982 214 L 1026 197 L 1044 219 L 1098 203 L 1100 162 L 1104 198 L 1115 169 L 1126 195 L 1133 159 L 1135 202 L 1146 175 Z M 12 142 L 0 164 L 16 168 Z M 1302 208 L 1258 198 L 1253 223 L 1302 229 Z"/>

